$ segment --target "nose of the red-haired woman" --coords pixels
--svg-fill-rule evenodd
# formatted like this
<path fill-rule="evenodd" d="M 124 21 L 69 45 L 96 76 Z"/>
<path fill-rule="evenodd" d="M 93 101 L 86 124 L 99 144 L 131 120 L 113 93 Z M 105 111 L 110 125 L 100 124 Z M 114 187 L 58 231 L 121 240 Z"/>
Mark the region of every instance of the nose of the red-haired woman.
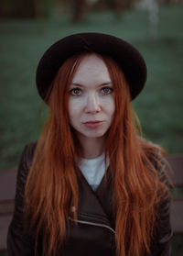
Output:
<path fill-rule="evenodd" d="M 88 95 L 86 106 L 85 106 L 85 112 L 86 113 L 98 113 L 101 111 L 100 102 L 97 95 Z"/>

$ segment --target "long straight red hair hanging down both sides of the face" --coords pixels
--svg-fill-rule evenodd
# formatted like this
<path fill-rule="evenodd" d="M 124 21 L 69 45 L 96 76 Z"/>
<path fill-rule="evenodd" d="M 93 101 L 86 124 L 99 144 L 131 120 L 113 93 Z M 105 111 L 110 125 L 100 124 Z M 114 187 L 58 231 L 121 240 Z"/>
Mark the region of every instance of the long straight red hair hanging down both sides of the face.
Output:
<path fill-rule="evenodd" d="M 31 226 L 37 228 L 37 242 L 42 234 L 43 250 L 48 256 L 56 254 L 66 239 L 71 206 L 76 208 L 72 217 L 77 219 L 75 156 L 78 152 L 77 139 L 70 128 L 68 101 L 70 83 L 86 54 L 90 53 L 77 54 L 65 61 L 50 86 L 46 98 L 48 121 L 38 140 L 27 177 L 26 217 Z M 146 143 L 138 135 L 124 73 L 111 58 L 97 55 L 108 68 L 115 100 L 105 155 L 110 158 L 117 255 L 142 256 L 150 252 L 156 209 L 167 193 L 167 187 L 159 180 L 156 171 L 157 165 L 161 167 L 156 158 L 159 148 Z"/>

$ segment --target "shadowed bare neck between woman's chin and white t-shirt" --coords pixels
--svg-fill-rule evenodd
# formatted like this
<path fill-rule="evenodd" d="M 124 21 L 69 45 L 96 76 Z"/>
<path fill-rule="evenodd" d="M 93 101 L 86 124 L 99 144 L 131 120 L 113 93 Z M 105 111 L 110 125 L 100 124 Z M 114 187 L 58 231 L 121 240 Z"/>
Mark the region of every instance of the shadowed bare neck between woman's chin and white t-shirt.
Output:
<path fill-rule="evenodd" d="M 100 156 L 104 150 L 105 138 L 86 138 L 82 135 L 78 136 L 80 140 L 82 152 L 81 157 L 85 159 L 92 159 Z"/>

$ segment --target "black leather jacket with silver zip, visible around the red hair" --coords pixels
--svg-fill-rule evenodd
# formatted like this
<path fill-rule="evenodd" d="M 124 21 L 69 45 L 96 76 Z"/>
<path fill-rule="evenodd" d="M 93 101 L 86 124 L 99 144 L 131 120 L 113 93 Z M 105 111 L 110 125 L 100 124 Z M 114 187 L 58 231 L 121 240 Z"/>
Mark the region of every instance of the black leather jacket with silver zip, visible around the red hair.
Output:
<path fill-rule="evenodd" d="M 32 256 L 35 251 L 35 232 L 23 228 L 24 189 L 27 173 L 33 159 L 36 143 L 23 151 L 17 173 L 16 204 L 8 229 L 7 250 L 11 256 Z M 109 173 L 109 172 L 108 172 Z M 104 179 L 96 192 L 92 191 L 83 175 L 79 179 L 78 226 L 70 218 L 70 236 L 58 252 L 60 256 L 114 256 L 115 230 L 111 205 L 110 179 Z M 152 241 L 152 256 L 170 256 L 172 232 L 169 223 L 169 199 L 165 198 L 159 209 L 156 238 Z M 38 255 L 42 254 L 41 242 Z M 132 255 L 133 256 L 133 255 Z"/>

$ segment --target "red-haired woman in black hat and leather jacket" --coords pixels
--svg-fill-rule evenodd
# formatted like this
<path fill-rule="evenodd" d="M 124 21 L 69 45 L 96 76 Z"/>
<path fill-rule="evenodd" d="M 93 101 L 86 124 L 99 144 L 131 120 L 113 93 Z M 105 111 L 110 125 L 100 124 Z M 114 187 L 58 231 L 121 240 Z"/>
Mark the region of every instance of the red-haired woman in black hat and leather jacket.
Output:
<path fill-rule="evenodd" d="M 38 64 L 49 117 L 18 168 L 9 255 L 170 256 L 162 150 L 138 134 L 131 101 L 145 61 L 122 39 L 60 39 Z"/>

